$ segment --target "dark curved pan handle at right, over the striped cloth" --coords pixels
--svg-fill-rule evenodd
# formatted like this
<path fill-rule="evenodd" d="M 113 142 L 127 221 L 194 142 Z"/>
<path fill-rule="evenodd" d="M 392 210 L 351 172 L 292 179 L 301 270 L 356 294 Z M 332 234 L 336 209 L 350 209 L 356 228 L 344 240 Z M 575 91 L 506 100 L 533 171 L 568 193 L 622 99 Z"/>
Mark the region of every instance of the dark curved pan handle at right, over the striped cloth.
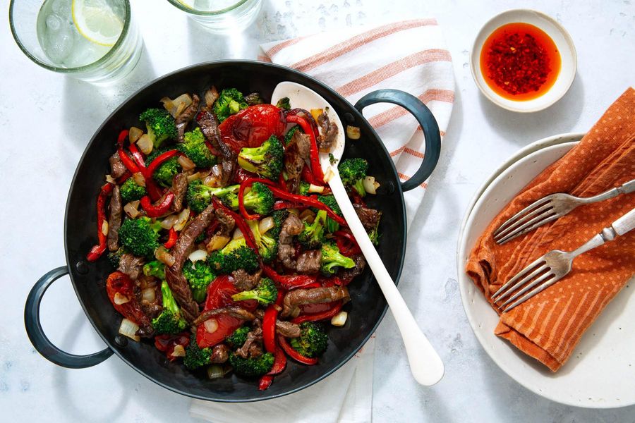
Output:
<path fill-rule="evenodd" d="M 401 183 L 401 190 L 409 191 L 428 179 L 437 166 L 441 154 L 441 133 L 439 125 L 428 106 L 417 97 L 400 90 L 377 90 L 359 99 L 355 109 L 360 113 L 365 106 L 375 103 L 392 103 L 409 111 L 418 121 L 425 136 L 425 156 L 418 170 L 409 180 Z"/>

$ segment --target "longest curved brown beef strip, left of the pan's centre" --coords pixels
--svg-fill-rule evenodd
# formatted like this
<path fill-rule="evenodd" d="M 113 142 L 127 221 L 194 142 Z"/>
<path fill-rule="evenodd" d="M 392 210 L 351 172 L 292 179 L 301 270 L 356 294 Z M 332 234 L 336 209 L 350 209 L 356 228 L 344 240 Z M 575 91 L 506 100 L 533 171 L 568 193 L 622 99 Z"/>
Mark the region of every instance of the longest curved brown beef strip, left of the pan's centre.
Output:
<path fill-rule="evenodd" d="M 176 302 L 179 302 L 181 306 L 183 317 L 189 322 L 192 322 L 198 316 L 198 303 L 192 298 L 192 290 L 185 276 L 183 276 L 183 263 L 192 252 L 196 238 L 205 231 L 207 226 L 210 226 L 213 218 L 214 206 L 210 204 L 207 209 L 200 212 L 181 231 L 181 235 L 179 235 L 176 244 L 171 249 L 174 264 L 165 269 L 166 281 L 174 294 L 174 298 L 176 298 Z"/>

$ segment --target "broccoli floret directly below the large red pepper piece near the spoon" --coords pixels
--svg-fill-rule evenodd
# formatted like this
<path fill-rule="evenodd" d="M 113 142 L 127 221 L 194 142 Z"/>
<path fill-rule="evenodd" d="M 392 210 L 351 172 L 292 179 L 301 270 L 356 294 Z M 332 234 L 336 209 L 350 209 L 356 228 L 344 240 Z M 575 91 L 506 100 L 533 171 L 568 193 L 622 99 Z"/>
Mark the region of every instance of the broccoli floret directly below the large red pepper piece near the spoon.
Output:
<path fill-rule="evenodd" d="M 284 161 L 282 142 L 272 135 L 260 147 L 245 147 L 238 153 L 238 164 L 248 172 L 278 180 Z"/>

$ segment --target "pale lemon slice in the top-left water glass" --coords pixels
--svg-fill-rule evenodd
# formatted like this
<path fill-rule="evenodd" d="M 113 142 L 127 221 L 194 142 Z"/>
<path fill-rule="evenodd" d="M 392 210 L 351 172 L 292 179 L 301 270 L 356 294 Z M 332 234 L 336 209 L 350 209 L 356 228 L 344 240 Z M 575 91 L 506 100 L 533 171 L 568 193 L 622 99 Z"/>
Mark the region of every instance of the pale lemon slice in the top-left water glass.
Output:
<path fill-rule="evenodd" d="M 123 22 L 104 0 L 73 0 L 73 23 L 90 42 L 111 47 L 119 39 Z"/>

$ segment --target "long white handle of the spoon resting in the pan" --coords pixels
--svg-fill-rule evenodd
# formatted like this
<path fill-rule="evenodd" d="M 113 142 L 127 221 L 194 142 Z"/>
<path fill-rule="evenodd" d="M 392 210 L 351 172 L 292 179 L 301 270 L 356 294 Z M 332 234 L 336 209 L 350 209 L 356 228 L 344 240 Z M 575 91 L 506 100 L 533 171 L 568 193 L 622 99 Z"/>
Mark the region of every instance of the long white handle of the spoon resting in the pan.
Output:
<path fill-rule="evenodd" d="M 363 252 L 366 262 L 368 262 L 368 266 L 373 271 L 375 279 L 377 279 L 377 283 L 384 293 L 395 321 L 397 321 L 397 327 L 399 327 L 401 338 L 404 340 L 406 354 L 408 355 L 410 369 L 414 378 L 419 384 L 424 386 L 436 384 L 443 376 L 443 362 L 430 344 L 430 341 L 428 341 L 428 338 L 419 329 L 404 298 L 401 297 L 382 259 L 377 254 L 375 246 L 370 242 L 368 234 L 362 226 L 355 209 L 353 209 L 353 204 L 351 204 L 351 200 L 346 194 L 346 189 L 341 183 L 337 171 L 334 172 L 331 180 L 329 180 L 329 186 L 342 214 L 344 214 L 346 223 L 349 224 L 349 228 Z"/>

